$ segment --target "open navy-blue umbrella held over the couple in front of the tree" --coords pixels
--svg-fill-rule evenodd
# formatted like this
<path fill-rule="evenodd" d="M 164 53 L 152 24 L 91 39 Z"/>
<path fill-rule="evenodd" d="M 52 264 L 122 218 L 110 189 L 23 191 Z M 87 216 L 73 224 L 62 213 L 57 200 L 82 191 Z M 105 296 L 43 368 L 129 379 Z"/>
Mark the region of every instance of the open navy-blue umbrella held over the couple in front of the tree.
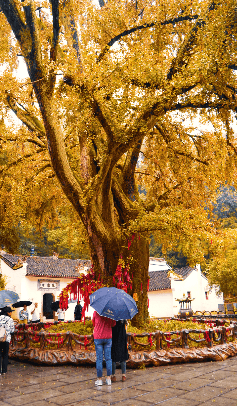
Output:
<path fill-rule="evenodd" d="M 138 313 L 135 300 L 124 290 L 116 287 L 101 287 L 90 294 L 90 305 L 100 316 L 112 320 L 131 319 Z"/>

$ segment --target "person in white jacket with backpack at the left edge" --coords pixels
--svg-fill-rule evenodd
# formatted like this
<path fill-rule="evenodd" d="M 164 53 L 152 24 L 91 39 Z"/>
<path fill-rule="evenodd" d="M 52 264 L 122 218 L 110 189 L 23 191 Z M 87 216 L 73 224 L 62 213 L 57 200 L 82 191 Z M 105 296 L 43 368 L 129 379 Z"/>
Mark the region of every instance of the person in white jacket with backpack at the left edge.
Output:
<path fill-rule="evenodd" d="M 0 313 L 0 327 L 3 326 L 6 329 L 6 340 L 4 342 L 0 342 L 0 375 L 5 375 L 7 372 L 7 365 L 8 365 L 8 355 L 9 355 L 9 348 L 10 348 L 10 340 L 11 334 L 14 332 L 14 321 L 11 318 L 12 314 L 11 307 L 5 307 L 1 310 Z"/>

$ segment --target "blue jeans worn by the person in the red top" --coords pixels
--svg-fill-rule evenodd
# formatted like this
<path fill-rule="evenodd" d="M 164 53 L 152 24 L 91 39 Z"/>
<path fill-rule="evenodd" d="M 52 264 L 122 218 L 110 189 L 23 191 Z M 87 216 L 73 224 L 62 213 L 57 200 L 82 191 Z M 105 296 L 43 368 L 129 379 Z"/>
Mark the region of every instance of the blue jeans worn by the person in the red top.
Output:
<path fill-rule="evenodd" d="M 104 359 L 106 362 L 107 376 L 112 373 L 112 361 L 111 361 L 111 345 L 112 338 L 100 338 L 95 339 L 95 352 L 96 352 L 96 371 L 98 378 L 103 376 L 103 350 Z"/>

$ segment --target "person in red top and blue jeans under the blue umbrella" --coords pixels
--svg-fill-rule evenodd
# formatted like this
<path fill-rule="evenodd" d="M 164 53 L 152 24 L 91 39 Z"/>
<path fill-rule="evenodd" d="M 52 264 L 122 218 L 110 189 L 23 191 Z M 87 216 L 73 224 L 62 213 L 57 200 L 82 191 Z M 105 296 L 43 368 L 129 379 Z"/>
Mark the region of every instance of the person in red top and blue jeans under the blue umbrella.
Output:
<path fill-rule="evenodd" d="M 111 373 L 112 373 L 112 360 L 111 360 L 111 345 L 112 345 L 112 327 L 116 325 L 111 318 L 100 316 L 94 311 L 92 318 L 94 331 L 94 342 L 96 352 L 96 371 L 98 379 L 95 382 L 96 385 L 103 385 L 103 350 L 104 359 L 106 362 L 107 379 L 106 384 L 111 385 Z"/>

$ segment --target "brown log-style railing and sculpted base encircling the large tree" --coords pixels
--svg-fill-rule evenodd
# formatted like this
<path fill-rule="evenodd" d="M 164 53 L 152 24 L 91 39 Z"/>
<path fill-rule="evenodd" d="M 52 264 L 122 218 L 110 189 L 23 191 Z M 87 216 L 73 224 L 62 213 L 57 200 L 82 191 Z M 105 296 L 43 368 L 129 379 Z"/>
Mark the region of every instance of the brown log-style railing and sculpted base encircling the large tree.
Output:
<path fill-rule="evenodd" d="M 30 326 L 31 329 L 35 328 Z M 93 335 L 78 335 L 72 331 L 53 333 L 31 329 L 27 329 L 27 326 L 22 329 L 21 325 L 20 329 L 15 330 L 9 350 L 11 358 L 47 365 L 66 363 L 94 365 L 96 363 Z M 139 341 L 139 338 L 143 342 Z M 141 365 L 158 366 L 189 361 L 200 362 L 207 359 L 224 360 L 237 354 L 236 338 L 235 322 L 227 327 L 218 325 L 205 330 L 182 329 L 141 334 L 128 332 L 127 366 L 137 368 Z M 146 340 L 147 342 L 144 342 Z M 189 345 L 196 347 L 190 348 Z"/>

